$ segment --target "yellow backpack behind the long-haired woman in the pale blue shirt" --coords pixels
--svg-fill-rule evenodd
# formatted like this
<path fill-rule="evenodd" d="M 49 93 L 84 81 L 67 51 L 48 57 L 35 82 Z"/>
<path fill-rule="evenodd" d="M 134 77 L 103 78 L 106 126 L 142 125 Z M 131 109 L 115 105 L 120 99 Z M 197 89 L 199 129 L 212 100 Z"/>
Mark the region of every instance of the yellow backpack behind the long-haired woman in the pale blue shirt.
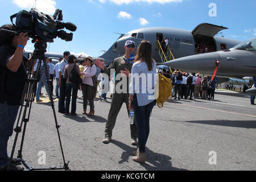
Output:
<path fill-rule="evenodd" d="M 171 79 L 163 76 L 161 73 L 158 74 L 158 82 L 156 85 L 156 104 L 159 108 L 163 107 L 164 102 L 171 96 L 172 94 L 172 84 Z M 158 89 L 157 89 L 158 88 Z"/>

